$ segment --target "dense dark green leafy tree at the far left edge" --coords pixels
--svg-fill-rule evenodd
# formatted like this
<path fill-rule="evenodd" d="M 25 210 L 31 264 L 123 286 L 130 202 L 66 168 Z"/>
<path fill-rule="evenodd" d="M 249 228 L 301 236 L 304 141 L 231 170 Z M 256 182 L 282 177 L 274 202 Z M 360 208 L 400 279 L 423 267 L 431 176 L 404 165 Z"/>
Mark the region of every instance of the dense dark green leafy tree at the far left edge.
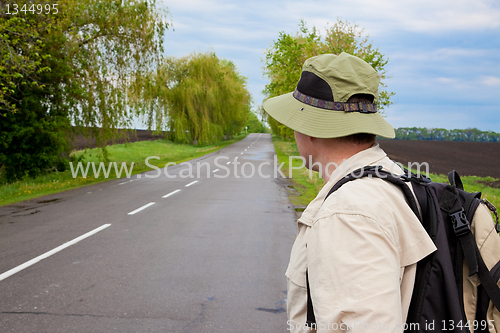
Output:
<path fill-rule="evenodd" d="M 26 12 L 5 15 L 0 26 L 0 166 L 11 180 L 64 170 L 69 120 L 51 105 L 61 99 L 51 84 L 61 68 L 51 69 L 46 38 L 57 21 Z"/>

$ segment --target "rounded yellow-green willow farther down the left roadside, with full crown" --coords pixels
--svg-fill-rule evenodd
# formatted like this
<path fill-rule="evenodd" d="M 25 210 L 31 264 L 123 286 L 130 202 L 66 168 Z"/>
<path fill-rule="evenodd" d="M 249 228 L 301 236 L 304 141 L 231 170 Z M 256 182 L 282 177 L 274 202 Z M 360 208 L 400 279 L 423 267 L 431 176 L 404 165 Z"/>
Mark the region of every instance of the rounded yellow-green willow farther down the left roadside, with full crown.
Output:
<path fill-rule="evenodd" d="M 176 142 L 215 143 L 239 134 L 250 110 L 246 78 L 214 53 L 166 58 L 134 90 L 148 127 Z"/>

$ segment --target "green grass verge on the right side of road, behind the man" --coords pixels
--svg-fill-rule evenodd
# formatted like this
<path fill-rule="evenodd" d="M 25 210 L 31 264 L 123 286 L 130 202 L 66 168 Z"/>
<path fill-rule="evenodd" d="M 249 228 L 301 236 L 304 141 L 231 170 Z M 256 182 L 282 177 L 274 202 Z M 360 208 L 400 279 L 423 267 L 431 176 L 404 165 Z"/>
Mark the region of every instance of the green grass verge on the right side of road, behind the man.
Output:
<path fill-rule="evenodd" d="M 297 144 L 294 141 L 284 141 L 275 136 L 273 136 L 273 143 L 278 156 L 278 163 L 284 163 L 281 171 L 285 176 L 289 177 L 288 193 L 290 201 L 295 206 L 295 210 L 302 211 L 316 197 L 324 186 L 324 181 L 318 177 L 317 172 L 311 172 L 312 177 L 310 177 L 310 171 L 304 167 L 292 169 L 290 174 L 291 167 L 298 168 L 302 164 L 300 159 L 292 159 L 291 164 L 289 161 L 289 156 L 299 156 Z M 434 182 L 448 183 L 446 175 L 430 173 L 429 177 Z M 464 176 L 461 179 L 466 191 L 481 192 L 483 199 L 488 199 L 495 207 L 500 209 L 500 188 L 489 186 L 493 182 L 498 182 L 498 179 L 476 176 Z"/>

